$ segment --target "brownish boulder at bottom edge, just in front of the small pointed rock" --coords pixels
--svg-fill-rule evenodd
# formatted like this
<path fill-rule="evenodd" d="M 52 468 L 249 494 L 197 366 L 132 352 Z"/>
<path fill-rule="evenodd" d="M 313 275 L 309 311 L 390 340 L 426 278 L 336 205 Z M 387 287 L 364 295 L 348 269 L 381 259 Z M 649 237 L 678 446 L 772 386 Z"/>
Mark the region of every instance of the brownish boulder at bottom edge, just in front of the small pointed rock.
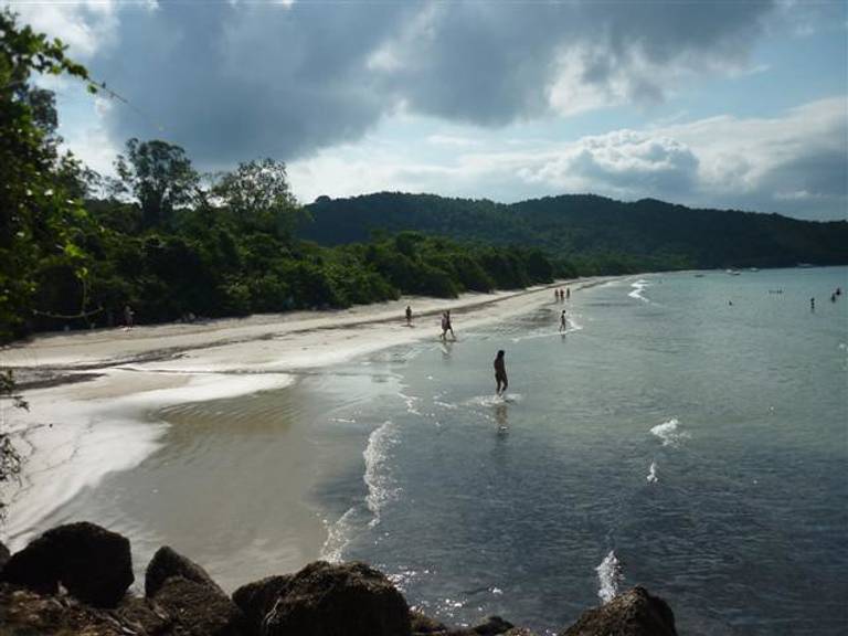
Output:
<path fill-rule="evenodd" d="M 177 625 L 173 633 L 180 636 L 243 636 L 247 632 L 242 611 L 215 587 L 169 576 L 152 601 Z"/>

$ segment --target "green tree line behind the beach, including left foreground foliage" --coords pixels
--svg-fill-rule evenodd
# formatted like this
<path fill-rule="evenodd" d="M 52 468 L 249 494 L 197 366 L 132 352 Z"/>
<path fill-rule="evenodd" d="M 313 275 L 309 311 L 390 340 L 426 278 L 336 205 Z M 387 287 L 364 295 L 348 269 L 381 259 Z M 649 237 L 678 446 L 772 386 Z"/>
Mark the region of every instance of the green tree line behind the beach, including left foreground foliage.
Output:
<path fill-rule="evenodd" d="M 39 74 L 100 89 L 64 45 L 0 12 L 0 342 L 38 330 L 348 307 L 401 294 L 454 297 L 549 282 L 537 248 L 414 232 L 327 247 L 283 162 L 201 174 L 183 148 L 130 139 L 104 178 L 61 150 Z"/>

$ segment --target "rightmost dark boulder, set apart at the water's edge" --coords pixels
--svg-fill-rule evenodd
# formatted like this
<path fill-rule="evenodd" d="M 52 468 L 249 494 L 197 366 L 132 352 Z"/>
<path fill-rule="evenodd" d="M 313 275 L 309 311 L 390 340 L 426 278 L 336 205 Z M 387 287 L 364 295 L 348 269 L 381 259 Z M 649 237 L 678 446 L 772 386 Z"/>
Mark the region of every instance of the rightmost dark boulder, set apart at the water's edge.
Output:
<path fill-rule="evenodd" d="M 677 636 L 677 630 L 668 604 L 644 587 L 634 587 L 584 612 L 560 636 Z"/>

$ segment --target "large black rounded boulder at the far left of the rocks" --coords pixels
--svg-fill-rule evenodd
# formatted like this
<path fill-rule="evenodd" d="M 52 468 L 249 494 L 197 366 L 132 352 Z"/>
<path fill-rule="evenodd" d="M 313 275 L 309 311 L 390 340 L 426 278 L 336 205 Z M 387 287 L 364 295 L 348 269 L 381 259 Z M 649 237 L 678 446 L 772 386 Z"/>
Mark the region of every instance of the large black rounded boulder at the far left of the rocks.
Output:
<path fill-rule="evenodd" d="M 70 594 L 102 607 L 114 607 L 132 584 L 129 541 L 94 523 L 47 530 L 12 554 L 2 580 L 45 594 L 62 583 Z"/>

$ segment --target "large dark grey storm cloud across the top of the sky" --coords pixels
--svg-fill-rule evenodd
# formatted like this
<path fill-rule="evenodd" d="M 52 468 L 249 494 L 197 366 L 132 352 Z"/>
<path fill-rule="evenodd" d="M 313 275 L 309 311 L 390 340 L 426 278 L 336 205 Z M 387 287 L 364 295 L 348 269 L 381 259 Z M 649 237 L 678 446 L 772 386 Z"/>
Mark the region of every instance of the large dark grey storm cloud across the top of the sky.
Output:
<path fill-rule="evenodd" d="M 617 82 L 619 98 L 661 99 L 657 68 L 739 64 L 770 9 L 766 2 L 135 4 L 120 9 L 114 44 L 89 66 L 136 107 L 112 109 L 117 139 L 163 137 L 202 165 L 257 155 L 292 160 L 356 140 L 399 107 L 478 125 L 545 114 L 569 52 L 582 61 L 570 89 L 603 92 Z"/>

